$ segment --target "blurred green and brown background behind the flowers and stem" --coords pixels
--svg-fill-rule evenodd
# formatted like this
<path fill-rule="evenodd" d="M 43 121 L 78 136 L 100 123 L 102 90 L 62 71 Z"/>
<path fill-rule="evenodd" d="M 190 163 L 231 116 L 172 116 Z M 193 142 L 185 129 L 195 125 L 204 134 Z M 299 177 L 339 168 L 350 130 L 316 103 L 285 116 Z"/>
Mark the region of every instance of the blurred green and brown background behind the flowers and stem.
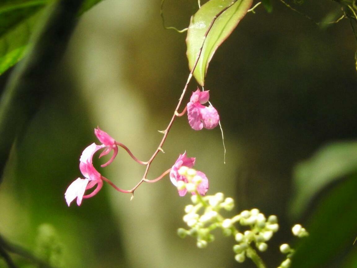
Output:
<path fill-rule="evenodd" d="M 59 267 L 253 267 L 249 260 L 235 262 L 232 238 L 217 233 L 214 243 L 198 249 L 195 239 L 177 236 L 190 198 L 180 198 L 168 177 L 141 185 L 132 201 L 104 185 L 81 207 L 65 203 L 67 186 L 81 175 L 82 150 L 97 142 L 97 125 L 142 160 L 161 140 L 157 130 L 169 123 L 189 70 L 185 34 L 162 27 L 160 2 L 105 0 L 81 17 L 48 84 L 53 94 L 17 139 L 7 163 L 0 232 L 34 251 L 47 234 Z M 320 21 L 338 7 L 323 1 L 301 10 Z M 167 0 L 166 24 L 185 28 L 196 10 L 196 1 Z M 324 144 L 356 139 L 355 49 L 348 20 L 321 28 L 280 1 L 273 2 L 272 13 L 258 7 L 208 69 L 205 90 L 220 113 L 226 164 L 220 130 L 194 131 L 184 116 L 175 121 L 149 179 L 186 150 L 210 179 L 208 194 L 235 198 L 237 213 L 259 208 L 278 216 L 280 231 L 261 254 L 269 267 L 277 267 L 283 260 L 278 245 L 294 244 L 291 226 L 305 223 L 313 211 L 300 218 L 290 211 L 294 167 Z M 193 81 L 190 91 L 196 86 Z M 130 189 L 144 167 L 122 150 L 100 171 Z M 6 267 L 2 260 L 0 267 Z"/>

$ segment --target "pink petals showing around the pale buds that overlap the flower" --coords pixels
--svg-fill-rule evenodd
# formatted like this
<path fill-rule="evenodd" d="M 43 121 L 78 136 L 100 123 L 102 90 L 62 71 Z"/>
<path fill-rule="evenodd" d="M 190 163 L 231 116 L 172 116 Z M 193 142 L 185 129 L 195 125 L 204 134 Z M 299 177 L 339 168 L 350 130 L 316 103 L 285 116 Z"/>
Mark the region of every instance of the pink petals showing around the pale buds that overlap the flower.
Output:
<path fill-rule="evenodd" d="M 170 180 L 172 184 L 174 184 L 177 187 L 177 182 L 182 180 L 185 183 L 188 183 L 187 178 L 184 175 L 178 174 L 178 170 L 181 167 L 188 167 L 192 168 L 195 165 L 195 160 L 196 158 L 188 158 L 186 157 L 186 152 L 183 154 L 180 154 L 178 159 L 176 160 L 175 164 L 172 166 L 171 171 L 170 171 Z M 206 174 L 197 171 L 196 175 L 200 176 L 202 179 L 202 182 L 197 186 L 197 191 L 201 195 L 205 195 L 208 190 L 208 179 L 206 177 Z M 183 190 L 178 190 L 178 194 L 180 196 L 184 196 L 187 193 L 187 189 Z M 192 194 L 195 194 L 194 192 Z"/>

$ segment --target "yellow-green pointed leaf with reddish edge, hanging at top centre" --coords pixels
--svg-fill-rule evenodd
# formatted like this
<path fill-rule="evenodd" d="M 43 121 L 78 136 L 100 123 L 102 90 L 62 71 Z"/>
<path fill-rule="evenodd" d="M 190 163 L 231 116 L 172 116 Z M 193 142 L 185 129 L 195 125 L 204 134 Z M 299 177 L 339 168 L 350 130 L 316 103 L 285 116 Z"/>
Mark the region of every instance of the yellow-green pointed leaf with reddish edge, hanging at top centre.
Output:
<path fill-rule="evenodd" d="M 224 11 L 213 24 L 202 48 L 200 59 L 193 75 L 200 85 L 204 85 L 208 64 L 218 46 L 232 33 L 240 20 L 245 16 L 252 5 L 252 0 L 238 0 Z M 202 46 L 205 33 L 213 18 L 224 8 L 232 3 L 231 0 L 211 0 L 202 5 L 195 15 L 191 17 L 187 30 L 187 59 L 188 66 L 192 70 L 197 54 Z"/>

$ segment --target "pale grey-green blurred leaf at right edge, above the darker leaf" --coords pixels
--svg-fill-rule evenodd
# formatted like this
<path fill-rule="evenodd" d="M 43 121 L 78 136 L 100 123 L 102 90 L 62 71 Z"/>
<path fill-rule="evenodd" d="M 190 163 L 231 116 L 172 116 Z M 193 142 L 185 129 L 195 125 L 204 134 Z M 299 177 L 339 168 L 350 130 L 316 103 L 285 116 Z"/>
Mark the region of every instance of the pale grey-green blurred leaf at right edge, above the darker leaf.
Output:
<path fill-rule="evenodd" d="M 301 214 L 327 184 L 357 170 L 357 142 L 327 145 L 295 169 L 296 196 L 291 211 Z"/>

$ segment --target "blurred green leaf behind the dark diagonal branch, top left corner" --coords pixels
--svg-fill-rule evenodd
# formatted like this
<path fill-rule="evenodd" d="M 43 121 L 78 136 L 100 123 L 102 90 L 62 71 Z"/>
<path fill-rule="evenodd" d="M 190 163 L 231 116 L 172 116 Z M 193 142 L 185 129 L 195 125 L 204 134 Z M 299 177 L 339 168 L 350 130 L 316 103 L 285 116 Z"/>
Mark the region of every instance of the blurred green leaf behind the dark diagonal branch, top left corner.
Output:
<path fill-rule="evenodd" d="M 86 0 L 79 15 L 102 0 Z M 26 53 L 44 8 L 52 0 L 2 0 L 0 3 L 0 74 Z"/>

